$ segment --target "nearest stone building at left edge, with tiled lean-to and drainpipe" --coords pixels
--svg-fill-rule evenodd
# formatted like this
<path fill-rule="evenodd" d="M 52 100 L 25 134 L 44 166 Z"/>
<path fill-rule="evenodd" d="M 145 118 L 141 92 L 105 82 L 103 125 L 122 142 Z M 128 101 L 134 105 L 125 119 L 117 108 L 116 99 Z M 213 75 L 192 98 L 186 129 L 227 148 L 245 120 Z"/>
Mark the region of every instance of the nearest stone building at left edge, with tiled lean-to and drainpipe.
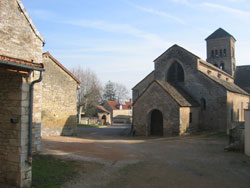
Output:
<path fill-rule="evenodd" d="M 38 82 L 44 71 L 43 45 L 44 39 L 21 1 L 1 0 L 0 187 L 30 187 L 32 149 L 40 147 Z M 30 97 L 32 91 L 34 98 Z"/>

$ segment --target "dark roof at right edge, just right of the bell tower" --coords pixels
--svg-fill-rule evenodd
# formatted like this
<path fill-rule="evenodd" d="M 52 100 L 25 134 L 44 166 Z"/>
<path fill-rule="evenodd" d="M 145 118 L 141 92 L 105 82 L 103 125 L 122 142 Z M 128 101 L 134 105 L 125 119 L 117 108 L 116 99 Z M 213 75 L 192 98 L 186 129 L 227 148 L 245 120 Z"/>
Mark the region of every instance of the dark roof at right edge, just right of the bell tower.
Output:
<path fill-rule="evenodd" d="M 246 87 L 250 88 L 250 65 L 237 66 L 235 71 L 235 83 L 244 89 Z M 250 89 L 247 91 L 250 92 Z"/>

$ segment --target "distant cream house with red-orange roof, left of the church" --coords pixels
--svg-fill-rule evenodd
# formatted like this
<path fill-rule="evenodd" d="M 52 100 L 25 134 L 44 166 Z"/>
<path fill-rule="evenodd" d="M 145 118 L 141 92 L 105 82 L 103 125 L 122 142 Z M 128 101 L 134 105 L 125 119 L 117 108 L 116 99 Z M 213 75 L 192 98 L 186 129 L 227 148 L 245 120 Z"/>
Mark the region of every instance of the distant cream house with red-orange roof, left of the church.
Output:
<path fill-rule="evenodd" d="M 132 102 L 104 101 L 102 106 L 111 114 L 111 124 L 132 123 Z"/>

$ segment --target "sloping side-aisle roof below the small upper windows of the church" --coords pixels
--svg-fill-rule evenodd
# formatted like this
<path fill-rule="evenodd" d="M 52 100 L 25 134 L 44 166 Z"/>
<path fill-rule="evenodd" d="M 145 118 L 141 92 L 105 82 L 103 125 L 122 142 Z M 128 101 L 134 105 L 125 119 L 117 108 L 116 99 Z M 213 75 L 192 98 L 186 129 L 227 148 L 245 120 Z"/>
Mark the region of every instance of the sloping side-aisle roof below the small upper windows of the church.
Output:
<path fill-rule="evenodd" d="M 204 74 L 203 72 L 201 72 L 201 73 Z M 214 82 L 220 84 L 221 86 L 223 86 L 228 91 L 231 91 L 233 93 L 239 93 L 239 94 L 242 94 L 242 95 L 249 95 L 246 91 L 244 91 L 243 89 L 241 89 L 239 86 L 237 86 L 236 84 L 234 84 L 232 82 L 222 80 L 222 79 L 217 78 L 216 76 L 213 76 L 213 75 L 209 75 L 209 74 L 204 74 L 204 75 L 206 75 L 208 78 L 210 78 Z"/>

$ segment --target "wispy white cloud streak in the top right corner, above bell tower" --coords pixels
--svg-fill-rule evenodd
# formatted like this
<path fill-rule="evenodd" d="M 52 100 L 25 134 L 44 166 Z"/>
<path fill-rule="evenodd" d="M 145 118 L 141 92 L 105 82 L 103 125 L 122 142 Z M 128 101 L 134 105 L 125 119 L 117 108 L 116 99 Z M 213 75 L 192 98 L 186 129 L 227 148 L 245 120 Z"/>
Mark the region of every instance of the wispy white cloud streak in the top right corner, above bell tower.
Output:
<path fill-rule="evenodd" d="M 214 3 L 202 3 L 201 5 L 204 7 L 216 8 L 216 9 L 219 9 L 221 11 L 228 12 L 230 14 L 235 14 L 237 16 L 250 17 L 250 12 L 245 11 L 245 10 L 235 9 L 235 8 L 227 7 L 227 6 L 220 5 L 220 4 L 214 4 Z"/>

